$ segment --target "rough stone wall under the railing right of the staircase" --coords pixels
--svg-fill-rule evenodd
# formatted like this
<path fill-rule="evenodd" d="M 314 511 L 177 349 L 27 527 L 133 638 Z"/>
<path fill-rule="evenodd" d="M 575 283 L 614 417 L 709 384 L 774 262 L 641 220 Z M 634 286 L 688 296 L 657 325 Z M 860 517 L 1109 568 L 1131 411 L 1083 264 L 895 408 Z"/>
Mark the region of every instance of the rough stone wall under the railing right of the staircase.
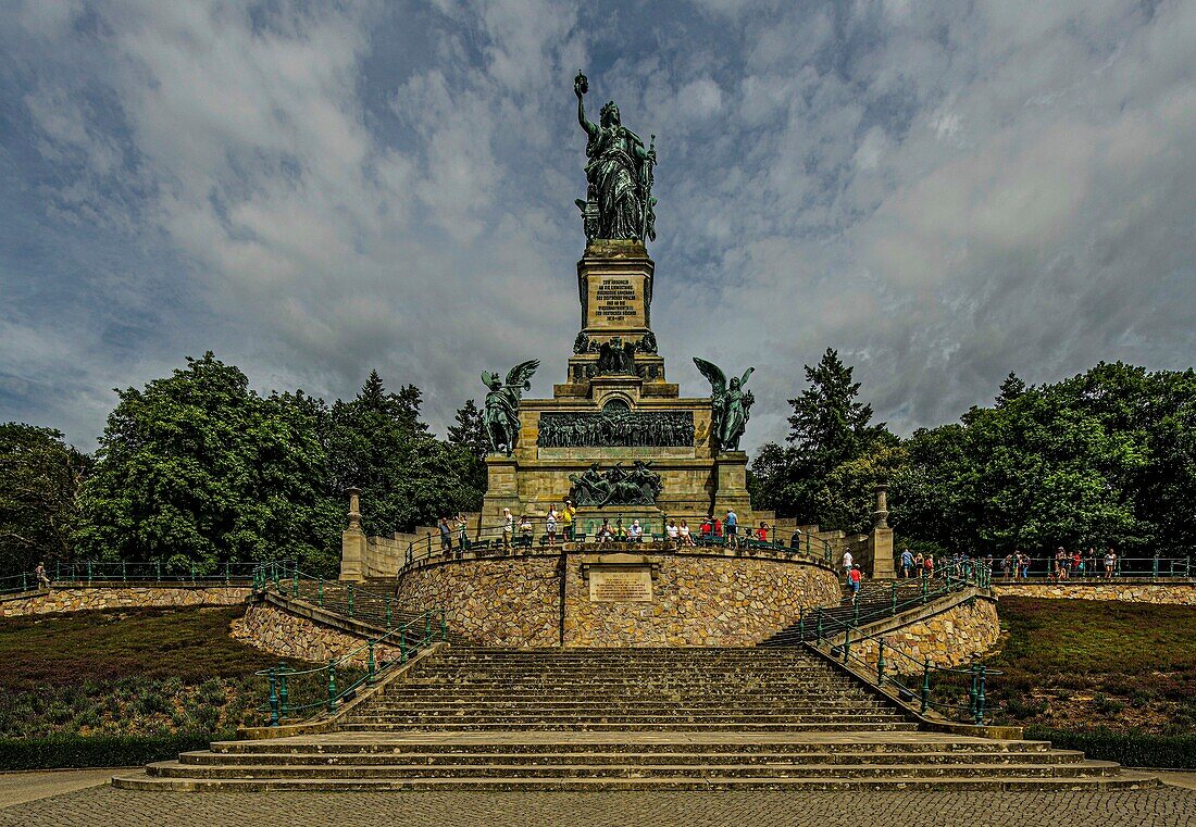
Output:
<path fill-rule="evenodd" d="M 910 674 L 914 672 L 913 664 L 896 653 L 909 655 L 919 663 L 929 658 L 930 666 L 954 667 L 969 663 L 974 655 L 982 655 L 991 649 L 1000 635 L 996 601 L 977 596 L 944 612 L 917 617 L 913 623 L 878 637 L 885 642 L 886 668 Z M 852 643 L 852 654 L 865 657 L 873 668 L 877 666 L 878 649 L 875 641 L 866 638 Z"/>

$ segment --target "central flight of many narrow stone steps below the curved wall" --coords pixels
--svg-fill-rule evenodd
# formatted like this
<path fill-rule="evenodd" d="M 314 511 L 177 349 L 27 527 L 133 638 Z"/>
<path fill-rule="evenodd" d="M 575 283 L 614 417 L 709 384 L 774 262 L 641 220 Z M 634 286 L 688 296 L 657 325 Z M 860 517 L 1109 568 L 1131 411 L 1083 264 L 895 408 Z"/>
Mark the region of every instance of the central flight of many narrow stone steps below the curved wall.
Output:
<path fill-rule="evenodd" d="M 805 651 L 453 647 L 347 731 L 909 730 Z"/>

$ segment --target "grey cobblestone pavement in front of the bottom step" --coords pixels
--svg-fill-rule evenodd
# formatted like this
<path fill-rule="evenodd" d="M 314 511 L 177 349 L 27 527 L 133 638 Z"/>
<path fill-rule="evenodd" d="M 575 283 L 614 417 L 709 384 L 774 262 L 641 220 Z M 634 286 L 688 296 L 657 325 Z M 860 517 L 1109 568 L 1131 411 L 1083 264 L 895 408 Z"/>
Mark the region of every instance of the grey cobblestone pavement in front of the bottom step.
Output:
<path fill-rule="evenodd" d="M 92 788 L 0 810 L 0 826 L 1164 827 L 1196 823 L 1196 790 L 1109 792 L 134 792 Z M 281 819 L 281 820 L 280 820 Z"/>

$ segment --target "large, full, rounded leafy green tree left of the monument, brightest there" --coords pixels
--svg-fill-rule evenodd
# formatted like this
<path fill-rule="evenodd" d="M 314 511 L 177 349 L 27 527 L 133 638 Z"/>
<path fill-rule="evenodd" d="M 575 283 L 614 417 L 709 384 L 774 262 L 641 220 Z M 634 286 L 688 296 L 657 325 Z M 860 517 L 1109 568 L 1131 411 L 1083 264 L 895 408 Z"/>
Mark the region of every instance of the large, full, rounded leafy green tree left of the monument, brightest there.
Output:
<path fill-rule="evenodd" d="M 79 492 L 81 555 L 212 571 L 336 551 L 313 400 L 263 399 L 212 353 L 117 393 Z"/>

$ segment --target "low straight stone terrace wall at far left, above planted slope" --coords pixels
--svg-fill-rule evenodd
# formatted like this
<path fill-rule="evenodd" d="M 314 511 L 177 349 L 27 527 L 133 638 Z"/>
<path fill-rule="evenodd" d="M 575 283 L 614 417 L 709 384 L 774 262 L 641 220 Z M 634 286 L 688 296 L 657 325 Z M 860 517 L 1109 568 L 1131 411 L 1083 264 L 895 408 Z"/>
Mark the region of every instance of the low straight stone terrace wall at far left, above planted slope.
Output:
<path fill-rule="evenodd" d="M 238 606 L 249 599 L 248 586 L 79 587 L 0 600 L 0 618 L 102 608 L 169 608 L 179 606 Z"/>

